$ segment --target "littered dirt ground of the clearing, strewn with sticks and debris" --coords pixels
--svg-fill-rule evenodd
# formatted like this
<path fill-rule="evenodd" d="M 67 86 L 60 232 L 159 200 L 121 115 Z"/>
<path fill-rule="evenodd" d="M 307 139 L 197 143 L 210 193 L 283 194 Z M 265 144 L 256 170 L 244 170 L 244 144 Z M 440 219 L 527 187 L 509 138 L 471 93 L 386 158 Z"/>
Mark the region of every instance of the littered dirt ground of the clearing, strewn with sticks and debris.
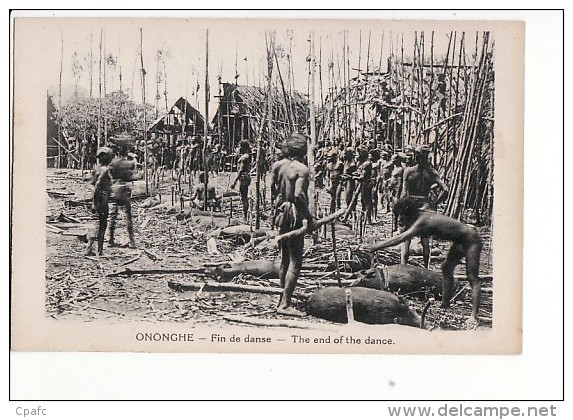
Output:
<path fill-rule="evenodd" d="M 228 191 L 235 174 L 222 173 L 210 177 L 210 183 L 217 192 Z M 200 226 L 196 223 L 181 222 L 175 217 L 179 210 L 178 195 L 173 197 L 172 187 L 177 183 L 166 175 L 157 186 L 151 186 L 153 193 L 161 194 L 161 204 L 147 208 L 149 199 L 135 198 L 132 204 L 135 225 L 136 249 L 128 248 L 125 213 L 120 210 L 118 217 L 117 241 L 124 246 L 110 248 L 104 245 L 101 257 L 85 256 L 85 233 L 94 224 L 90 211 L 89 199 L 93 196 L 89 185 L 88 173 L 79 170 L 48 170 L 47 187 L 47 233 L 46 233 L 46 312 L 55 319 L 74 319 L 90 322 L 93 320 L 133 320 L 149 322 L 186 322 L 192 324 L 228 323 L 224 317 L 229 315 L 249 316 L 260 319 L 289 319 L 275 314 L 277 295 L 244 292 L 181 292 L 169 287 L 172 283 L 205 282 L 213 279 L 204 274 L 141 274 L 128 277 L 108 277 L 114 270 L 129 267 L 131 269 L 147 268 L 194 268 L 205 263 L 218 261 L 241 261 L 251 259 L 275 259 L 276 249 L 258 249 L 244 245 L 233 245 L 223 240 L 218 241 L 220 255 L 210 255 L 207 250 L 207 238 L 213 227 Z M 197 182 L 195 180 L 195 182 Z M 189 184 L 181 186 L 183 194 L 188 195 Z M 254 183 L 251 191 L 254 193 Z M 133 188 L 134 196 L 145 192 L 145 182 L 137 181 Z M 268 192 L 267 192 L 268 193 Z M 159 197 L 157 198 L 159 199 Z M 320 207 L 327 208 L 329 195 L 318 190 Z M 267 200 L 268 201 L 268 200 Z M 189 207 L 188 201 L 184 203 Z M 233 218 L 238 217 L 238 206 L 235 204 Z M 230 216 L 229 206 L 223 209 Z M 261 227 L 269 228 L 268 211 L 263 214 Z M 215 218 L 228 220 L 227 218 Z M 53 226 L 53 227 L 51 227 Z M 340 223 L 337 225 L 337 255 L 343 272 L 356 269 L 361 264 L 369 264 L 369 255 L 358 251 L 360 243 L 368 243 L 391 236 L 391 217 L 380 213 L 379 220 L 368 225 L 364 236 Z M 55 228 L 54 228 L 55 227 Z M 492 273 L 491 232 L 480 228 L 484 241 L 481 256 L 480 274 Z M 330 232 L 319 234 L 319 243 L 313 245 L 307 239 L 305 246 L 305 263 L 332 264 Z M 449 244 L 433 241 L 434 249 L 431 268 L 440 269 Z M 413 263 L 421 264 L 421 256 L 412 256 Z M 398 248 L 385 251 L 380 262 L 395 264 L 399 262 Z M 365 267 L 364 267 L 365 268 Z M 464 274 L 464 265 L 459 265 L 456 274 Z M 307 296 L 321 281 L 334 280 L 332 272 L 325 272 L 320 278 L 314 275 L 302 275 L 297 292 Z M 263 280 L 241 274 L 233 279 L 234 284 L 277 287 L 278 280 Z M 466 282 L 462 282 L 466 285 Z M 492 283 L 491 279 L 482 283 L 482 307 L 480 318 L 483 326 L 492 325 Z M 425 300 L 403 296 L 411 307 L 421 311 Z M 295 305 L 304 310 L 305 299 L 295 299 Z M 434 302 L 428 311 L 426 324 L 443 329 L 463 329 L 464 322 L 471 311 L 471 300 L 468 290 L 462 289 L 455 298 L 452 308 L 439 308 Z M 295 319 L 295 318 L 292 318 Z M 328 321 L 307 316 L 308 322 L 324 323 Z"/>

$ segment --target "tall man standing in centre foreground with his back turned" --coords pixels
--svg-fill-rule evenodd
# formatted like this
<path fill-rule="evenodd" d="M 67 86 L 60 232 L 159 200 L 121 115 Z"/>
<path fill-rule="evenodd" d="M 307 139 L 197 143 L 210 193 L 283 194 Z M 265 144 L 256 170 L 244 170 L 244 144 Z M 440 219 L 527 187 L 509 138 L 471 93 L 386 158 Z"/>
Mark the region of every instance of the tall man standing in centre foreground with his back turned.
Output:
<path fill-rule="evenodd" d="M 283 155 L 288 161 L 284 162 L 278 170 L 279 200 L 274 220 L 280 233 L 302 227 L 305 219 L 309 229 L 312 229 L 316 223 L 315 217 L 308 208 L 309 169 L 303 163 L 306 153 L 307 139 L 302 134 L 292 134 L 284 144 Z M 279 277 L 283 294 L 277 313 L 301 316 L 302 313 L 290 305 L 302 267 L 304 236 L 282 240 L 279 246 L 281 250 Z"/>

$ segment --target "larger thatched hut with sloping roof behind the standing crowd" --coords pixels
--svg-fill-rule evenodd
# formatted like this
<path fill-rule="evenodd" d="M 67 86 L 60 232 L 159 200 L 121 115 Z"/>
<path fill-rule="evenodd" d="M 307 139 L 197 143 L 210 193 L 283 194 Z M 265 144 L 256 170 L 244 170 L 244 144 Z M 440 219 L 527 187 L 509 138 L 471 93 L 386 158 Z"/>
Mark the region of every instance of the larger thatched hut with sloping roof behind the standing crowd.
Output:
<path fill-rule="evenodd" d="M 267 90 L 255 86 L 223 83 L 213 130 L 223 147 L 233 151 L 243 139 L 279 145 L 292 131 L 307 131 L 308 103 L 298 92 L 271 91 L 272 129 L 269 136 Z"/>

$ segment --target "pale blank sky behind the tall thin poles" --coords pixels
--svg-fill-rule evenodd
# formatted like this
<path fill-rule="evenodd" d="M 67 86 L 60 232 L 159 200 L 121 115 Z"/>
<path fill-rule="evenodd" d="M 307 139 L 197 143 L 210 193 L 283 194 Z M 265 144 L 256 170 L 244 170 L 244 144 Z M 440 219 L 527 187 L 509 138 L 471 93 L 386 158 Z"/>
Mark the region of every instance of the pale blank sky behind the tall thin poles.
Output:
<path fill-rule="evenodd" d="M 33 19 L 33 18 L 23 18 Z M 141 93 L 141 45 L 143 45 L 143 62 L 146 70 L 146 101 L 155 105 L 157 53 L 164 52 L 160 61 L 160 72 L 166 74 L 168 106 L 179 97 L 186 97 L 191 105 L 205 113 L 205 62 L 206 32 L 208 29 L 209 51 L 209 85 L 211 92 L 209 118 L 217 107 L 218 76 L 223 82 L 234 82 L 239 74 L 239 84 L 266 84 L 266 44 L 265 33 L 274 31 L 276 44 L 285 53 L 291 54 L 292 77 L 295 89 L 306 94 L 309 87 L 309 67 L 307 57 L 310 53 L 309 39 L 314 37 L 315 58 L 317 60 L 315 98 L 320 100 L 319 70 L 322 68 L 323 95 L 329 85 L 328 63 L 335 64 L 335 77 L 338 77 L 338 63 L 343 63 L 343 39 L 347 34 L 349 46 L 351 75 L 356 76 L 355 69 L 366 70 L 378 67 L 382 63 L 386 69 L 387 58 L 391 48 L 395 54 L 402 39 L 405 56 L 412 56 L 415 34 L 425 34 L 425 56 L 430 56 L 431 33 L 434 30 L 434 57 L 440 60 L 446 54 L 448 35 L 456 29 L 451 25 L 436 27 L 435 24 L 416 26 L 404 22 L 384 21 L 317 21 L 317 20 L 245 20 L 245 19 L 159 19 L 159 18 L 38 18 L 36 30 L 39 37 L 35 42 L 41 43 L 40 49 L 46 51 L 40 57 L 48 86 L 53 88 L 59 83 L 60 61 L 62 60 L 62 84 L 74 86 L 72 71 L 74 53 L 82 66 L 79 72 L 80 90 L 89 92 L 89 54 L 93 54 L 93 94 L 98 95 L 99 79 L 99 43 L 102 39 L 102 50 L 105 56 L 112 54 L 117 59 L 115 69 L 107 67 L 107 91 L 119 89 L 119 67 L 122 72 L 122 88 L 138 103 L 142 102 Z M 17 24 L 16 24 L 17 27 Z M 463 29 L 463 28 L 462 28 Z M 475 30 L 468 36 L 475 37 Z M 470 35 L 471 34 L 471 35 Z M 390 42 L 390 40 L 394 42 Z M 370 40 L 370 52 L 368 43 Z M 63 41 L 63 54 L 62 54 Z M 16 39 L 17 43 L 17 39 Z M 91 48 L 90 48 L 91 45 Z M 468 52 L 469 54 L 469 52 Z M 286 58 L 280 62 L 283 79 L 288 78 Z M 342 70 L 341 70 L 342 71 Z M 276 65 L 274 74 L 276 77 Z M 196 87 L 199 85 L 199 91 Z M 66 89 L 64 89 L 66 90 Z M 159 110 L 165 110 L 163 96 L 164 85 L 159 92 Z"/>

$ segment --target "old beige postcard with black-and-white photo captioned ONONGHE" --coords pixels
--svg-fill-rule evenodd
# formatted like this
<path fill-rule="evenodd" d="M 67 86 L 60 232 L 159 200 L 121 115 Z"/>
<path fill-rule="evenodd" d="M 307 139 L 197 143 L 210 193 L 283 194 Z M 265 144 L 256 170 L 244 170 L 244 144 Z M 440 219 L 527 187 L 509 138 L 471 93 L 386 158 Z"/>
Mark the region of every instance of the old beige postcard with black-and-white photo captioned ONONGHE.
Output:
<path fill-rule="evenodd" d="M 11 348 L 520 353 L 524 31 L 15 17 Z"/>

